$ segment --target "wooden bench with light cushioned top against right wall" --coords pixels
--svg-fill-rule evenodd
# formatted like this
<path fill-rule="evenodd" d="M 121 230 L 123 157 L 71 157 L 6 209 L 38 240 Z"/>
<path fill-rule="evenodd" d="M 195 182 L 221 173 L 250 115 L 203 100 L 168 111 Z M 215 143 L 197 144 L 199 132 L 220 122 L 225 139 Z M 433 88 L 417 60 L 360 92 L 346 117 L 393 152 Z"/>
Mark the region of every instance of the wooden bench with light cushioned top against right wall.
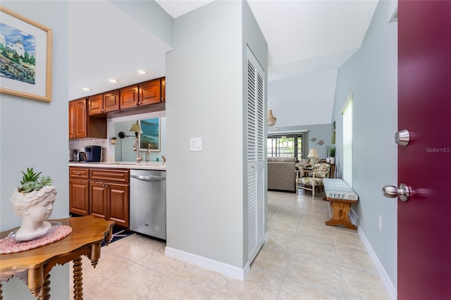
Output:
<path fill-rule="evenodd" d="M 357 229 L 357 226 L 351 223 L 348 213 L 351 204 L 359 201 L 359 196 L 341 179 L 324 178 L 323 185 L 326 194 L 325 200 L 330 201 L 330 207 L 333 209 L 333 216 L 326 221 L 326 225 L 342 225 Z"/>

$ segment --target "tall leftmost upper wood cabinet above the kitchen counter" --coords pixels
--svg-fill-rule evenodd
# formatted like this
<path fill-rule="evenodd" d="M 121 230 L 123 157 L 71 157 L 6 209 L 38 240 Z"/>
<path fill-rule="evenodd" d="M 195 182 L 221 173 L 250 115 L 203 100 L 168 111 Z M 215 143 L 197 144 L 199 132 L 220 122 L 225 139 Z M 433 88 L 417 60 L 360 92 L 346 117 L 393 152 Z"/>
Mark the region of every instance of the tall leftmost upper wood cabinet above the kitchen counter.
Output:
<path fill-rule="evenodd" d="M 87 99 L 69 102 L 69 139 L 87 137 Z"/>

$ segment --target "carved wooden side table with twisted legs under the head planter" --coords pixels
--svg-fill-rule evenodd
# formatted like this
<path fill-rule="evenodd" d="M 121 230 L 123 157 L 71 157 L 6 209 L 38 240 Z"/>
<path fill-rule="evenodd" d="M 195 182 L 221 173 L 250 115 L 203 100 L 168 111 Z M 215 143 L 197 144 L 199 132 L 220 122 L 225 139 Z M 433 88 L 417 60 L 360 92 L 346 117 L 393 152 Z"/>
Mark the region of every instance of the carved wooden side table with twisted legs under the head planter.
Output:
<path fill-rule="evenodd" d="M 113 221 L 87 215 L 78 218 L 55 220 L 72 227 L 67 237 L 45 246 L 0 256 L 0 282 L 18 277 L 37 299 L 50 299 L 50 271 L 56 265 L 73 261 L 74 299 L 83 298 L 82 256 L 91 260 L 95 268 L 100 258 L 101 242 L 111 240 Z M 0 238 L 9 232 L 1 232 Z M 0 284 L 0 299 L 2 289 Z"/>

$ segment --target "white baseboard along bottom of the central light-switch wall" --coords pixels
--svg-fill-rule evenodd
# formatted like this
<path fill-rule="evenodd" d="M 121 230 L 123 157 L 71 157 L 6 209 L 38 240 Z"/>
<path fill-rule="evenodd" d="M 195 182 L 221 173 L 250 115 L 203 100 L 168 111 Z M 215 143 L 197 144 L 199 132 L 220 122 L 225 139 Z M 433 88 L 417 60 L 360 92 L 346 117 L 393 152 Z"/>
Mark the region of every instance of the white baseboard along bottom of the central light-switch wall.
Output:
<path fill-rule="evenodd" d="M 235 267 L 234 265 L 228 265 L 227 263 L 221 263 L 220 261 L 214 261 L 210 258 L 204 258 L 202 256 L 190 254 L 170 247 L 166 247 L 164 255 L 180 259 L 180 261 L 185 261 L 185 263 L 199 265 L 199 267 L 206 268 L 239 280 L 245 280 L 250 271 L 249 263 L 245 265 L 245 268 L 241 269 Z"/>

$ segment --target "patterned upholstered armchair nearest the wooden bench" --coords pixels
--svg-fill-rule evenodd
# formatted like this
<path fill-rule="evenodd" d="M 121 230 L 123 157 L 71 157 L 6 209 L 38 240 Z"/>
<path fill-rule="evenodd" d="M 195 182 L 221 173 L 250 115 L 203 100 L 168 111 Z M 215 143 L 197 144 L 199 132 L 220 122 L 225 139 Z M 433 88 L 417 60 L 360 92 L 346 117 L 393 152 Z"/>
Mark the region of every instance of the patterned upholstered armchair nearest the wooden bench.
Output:
<path fill-rule="evenodd" d="M 296 171 L 296 194 L 299 189 L 311 191 L 312 198 L 315 198 L 316 187 L 323 188 L 323 178 L 330 177 L 330 164 L 315 163 L 311 166 L 311 172 L 302 177 L 303 171 Z"/>

